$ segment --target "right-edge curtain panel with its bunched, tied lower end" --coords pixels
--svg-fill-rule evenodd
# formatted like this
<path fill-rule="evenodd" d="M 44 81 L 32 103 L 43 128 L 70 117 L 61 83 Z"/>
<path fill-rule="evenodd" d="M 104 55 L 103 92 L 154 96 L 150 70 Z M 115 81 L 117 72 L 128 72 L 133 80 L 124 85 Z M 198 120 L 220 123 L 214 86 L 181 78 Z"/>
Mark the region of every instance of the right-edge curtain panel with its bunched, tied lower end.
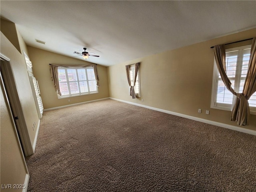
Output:
<path fill-rule="evenodd" d="M 233 104 L 231 118 L 238 125 L 248 125 L 250 106 L 248 100 L 256 91 L 256 38 L 252 40 L 252 48 L 248 64 L 248 72 L 244 82 L 242 93 L 236 94 L 236 102 Z"/>

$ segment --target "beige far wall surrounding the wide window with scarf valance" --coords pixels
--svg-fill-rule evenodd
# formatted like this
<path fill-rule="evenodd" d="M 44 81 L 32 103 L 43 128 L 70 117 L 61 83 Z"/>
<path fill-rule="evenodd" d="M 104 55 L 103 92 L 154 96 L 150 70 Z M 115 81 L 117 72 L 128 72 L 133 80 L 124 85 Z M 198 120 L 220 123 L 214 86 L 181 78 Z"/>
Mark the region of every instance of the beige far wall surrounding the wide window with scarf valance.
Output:
<path fill-rule="evenodd" d="M 31 46 L 28 46 L 28 52 L 33 65 L 33 74 L 38 80 L 44 109 L 109 97 L 107 68 L 97 65 L 100 79 L 98 94 L 58 99 L 51 79 L 49 64 L 86 64 L 88 62 Z M 68 102 L 68 100 L 70 100 L 70 102 Z"/>

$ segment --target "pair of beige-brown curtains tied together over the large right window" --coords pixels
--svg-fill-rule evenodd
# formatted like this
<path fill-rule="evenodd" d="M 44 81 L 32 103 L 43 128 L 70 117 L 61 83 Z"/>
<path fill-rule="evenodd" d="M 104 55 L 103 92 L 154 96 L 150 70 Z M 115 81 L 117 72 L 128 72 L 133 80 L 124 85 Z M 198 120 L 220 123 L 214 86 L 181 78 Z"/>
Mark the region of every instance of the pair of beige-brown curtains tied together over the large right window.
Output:
<path fill-rule="evenodd" d="M 245 84 L 244 84 L 244 90 L 243 90 L 243 93 L 236 93 L 234 89 L 231 87 L 231 82 L 228 79 L 228 76 L 226 74 L 225 45 L 214 46 L 215 60 L 216 60 L 217 68 L 222 78 L 222 81 L 224 82 L 226 88 L 237 97 L 236 102 L 232 106 L 230 119 L 232 121 L 237 121 L 238 125 L 248 125 L 248 122 L 249 122 L 250 108 L 248 104 L 248 99 L 256 91 L 255 50 L 256 50 L 255 38 L 253 38 L 250 61 L 248 66 L 248 73 L 247 73 Z"/>

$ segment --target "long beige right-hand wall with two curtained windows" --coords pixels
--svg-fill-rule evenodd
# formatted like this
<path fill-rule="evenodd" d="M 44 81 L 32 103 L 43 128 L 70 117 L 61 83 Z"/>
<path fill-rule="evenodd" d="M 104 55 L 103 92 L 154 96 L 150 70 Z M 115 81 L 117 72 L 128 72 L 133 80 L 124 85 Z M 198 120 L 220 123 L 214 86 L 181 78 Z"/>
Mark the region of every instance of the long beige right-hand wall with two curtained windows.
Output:
<path fill-rule="evenodd" d="M 210 108 L 214 67 L 214 52 L 210 47 L 252 38 L 255 34 L 256 29 L 247 30 L 110 66 L 110 97 L 238 126 L 236 122 L 230 121 L 229 111 Z M 249 43 L 244 42 L 243 45 Z M 141 62 L 141 98 L 132 99 L 129 96 L 125 65 L 136 62 Z M 202 109 L 202 113 L 198 113 L 198 108 Z M 209 115 L 205 114 L 206 110 L 210 110 Z M 256 130 L 256 115 L 250 115 L 250 125 L 242 128 Z"/>

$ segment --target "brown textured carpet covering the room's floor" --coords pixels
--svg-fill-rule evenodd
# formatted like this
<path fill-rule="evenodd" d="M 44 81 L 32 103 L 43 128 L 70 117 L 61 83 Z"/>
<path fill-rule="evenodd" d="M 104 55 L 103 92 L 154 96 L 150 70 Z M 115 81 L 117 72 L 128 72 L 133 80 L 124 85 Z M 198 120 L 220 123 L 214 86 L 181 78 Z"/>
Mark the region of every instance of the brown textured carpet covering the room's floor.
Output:
<path fill-rule="evenodd" d="M 256 136 L 103 100 L 44 112 L 29 192 L 256 192 Z"/>

